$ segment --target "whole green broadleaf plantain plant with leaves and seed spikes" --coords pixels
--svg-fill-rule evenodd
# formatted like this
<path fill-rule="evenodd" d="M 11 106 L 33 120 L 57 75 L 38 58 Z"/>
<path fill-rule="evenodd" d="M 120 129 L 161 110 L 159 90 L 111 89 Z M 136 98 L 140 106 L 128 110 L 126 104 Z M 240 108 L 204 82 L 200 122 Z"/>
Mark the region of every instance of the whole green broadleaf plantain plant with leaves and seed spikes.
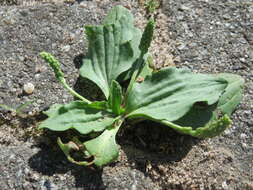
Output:
<path fill-rule="evenodd" d="M 89 49 L 80 75 L 102 90 L 104 101 L 91 102 L 75 92 L 66 83 L 59 62 L 49 53 L 40 54 L 59 82 L 80 99 L 51 106 L 40 128 L 98 134 L 85 142 L 74 137 L 67 144 L 58 138 L 70 162 L 103 166 L 117 159 L 115 137 L 127 118 L 156 121 L 199 138 L 219 135 L 231 124 L 229 116 L 242 98 L 244 80 L 234 74 L 196 74 L 174 67 L 152 71 L 148 48 L 154 21 L 148 22 L 142 34 L 133 20 L 129 10 L 116 6 L 102 25 L 85 27 Z M 126 89 L 122 81 L 130 81 Z M 76 161 L 72 152 L 81 152 L 83 160 Z"/>

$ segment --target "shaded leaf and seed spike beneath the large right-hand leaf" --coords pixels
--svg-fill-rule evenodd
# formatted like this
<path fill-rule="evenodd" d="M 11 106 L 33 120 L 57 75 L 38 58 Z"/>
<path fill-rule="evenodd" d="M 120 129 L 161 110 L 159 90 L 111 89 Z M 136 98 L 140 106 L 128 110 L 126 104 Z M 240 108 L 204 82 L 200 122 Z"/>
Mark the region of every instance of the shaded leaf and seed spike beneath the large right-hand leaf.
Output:
<path fill-rule="evenodd" d="M 174 123 L 168 121 L 162 121 L 162 123 L 178 132 L 199 138 L 217 136 L 229 127 L 232 121 L 228 116 L 231 115 L 242 99 L 244 80 L 234 74 L 218 74 L 215 76 L 228 82 L 218 103 L 204 107 L 195 105 L 185 116 Z"/>

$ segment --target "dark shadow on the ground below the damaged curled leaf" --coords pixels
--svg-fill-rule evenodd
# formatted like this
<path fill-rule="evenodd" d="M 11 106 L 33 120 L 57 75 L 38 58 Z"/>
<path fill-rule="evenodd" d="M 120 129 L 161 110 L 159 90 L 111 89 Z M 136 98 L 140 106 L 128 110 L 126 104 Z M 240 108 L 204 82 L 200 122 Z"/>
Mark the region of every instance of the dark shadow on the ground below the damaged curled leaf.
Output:
<path fill-rule="evenodd" d="M 69 173 L 75 178 L 76 188 L 105 189 L 102 181 L 103 169 L 78 166 L 66 159 L 56 143 L 57 136 L 63 135 L 66 134 L 46 131 L 46 134 L 40 136 L 38 144 L 34 145 L 40 148 L 40 151 L 30 157 L 30 168 L 46 176 Z"/>

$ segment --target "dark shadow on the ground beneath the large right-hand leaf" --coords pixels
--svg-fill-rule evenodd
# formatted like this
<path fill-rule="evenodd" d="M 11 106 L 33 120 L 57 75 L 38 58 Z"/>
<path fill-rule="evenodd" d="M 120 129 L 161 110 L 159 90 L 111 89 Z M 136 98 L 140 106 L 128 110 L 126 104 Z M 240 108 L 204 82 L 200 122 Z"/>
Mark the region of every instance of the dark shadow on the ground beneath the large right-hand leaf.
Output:
<path fill-rule="evenodd" d="M 180 162 L 194 145 L 201 142 L 152 121 L 126 126 L 117 138 L 128 161 L 144 174 L 147 174 L 147 164 L 157 166 Z"/>

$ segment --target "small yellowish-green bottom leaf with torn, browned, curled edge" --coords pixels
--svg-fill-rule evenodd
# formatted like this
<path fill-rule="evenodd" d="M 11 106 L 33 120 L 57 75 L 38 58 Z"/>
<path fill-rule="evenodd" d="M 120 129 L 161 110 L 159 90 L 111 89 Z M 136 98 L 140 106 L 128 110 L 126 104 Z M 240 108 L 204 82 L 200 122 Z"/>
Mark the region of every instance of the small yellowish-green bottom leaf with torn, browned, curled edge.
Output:
<path fill-rule="evenodd" d="M 105 129 L 105 131 L 98 137 L 81 143 L 77 138 L 67 144 L 62 143 L 58 138 L 58 145 L 72 163 L 78 165 L 91 165 L 103 166 L 118 158 L 118 145 L 115 137 L 122 124 L 123 120 L 117 120 L 113 126 Z M 82 152 L 83 161 L 76 161 L 71 152 Z"/>

